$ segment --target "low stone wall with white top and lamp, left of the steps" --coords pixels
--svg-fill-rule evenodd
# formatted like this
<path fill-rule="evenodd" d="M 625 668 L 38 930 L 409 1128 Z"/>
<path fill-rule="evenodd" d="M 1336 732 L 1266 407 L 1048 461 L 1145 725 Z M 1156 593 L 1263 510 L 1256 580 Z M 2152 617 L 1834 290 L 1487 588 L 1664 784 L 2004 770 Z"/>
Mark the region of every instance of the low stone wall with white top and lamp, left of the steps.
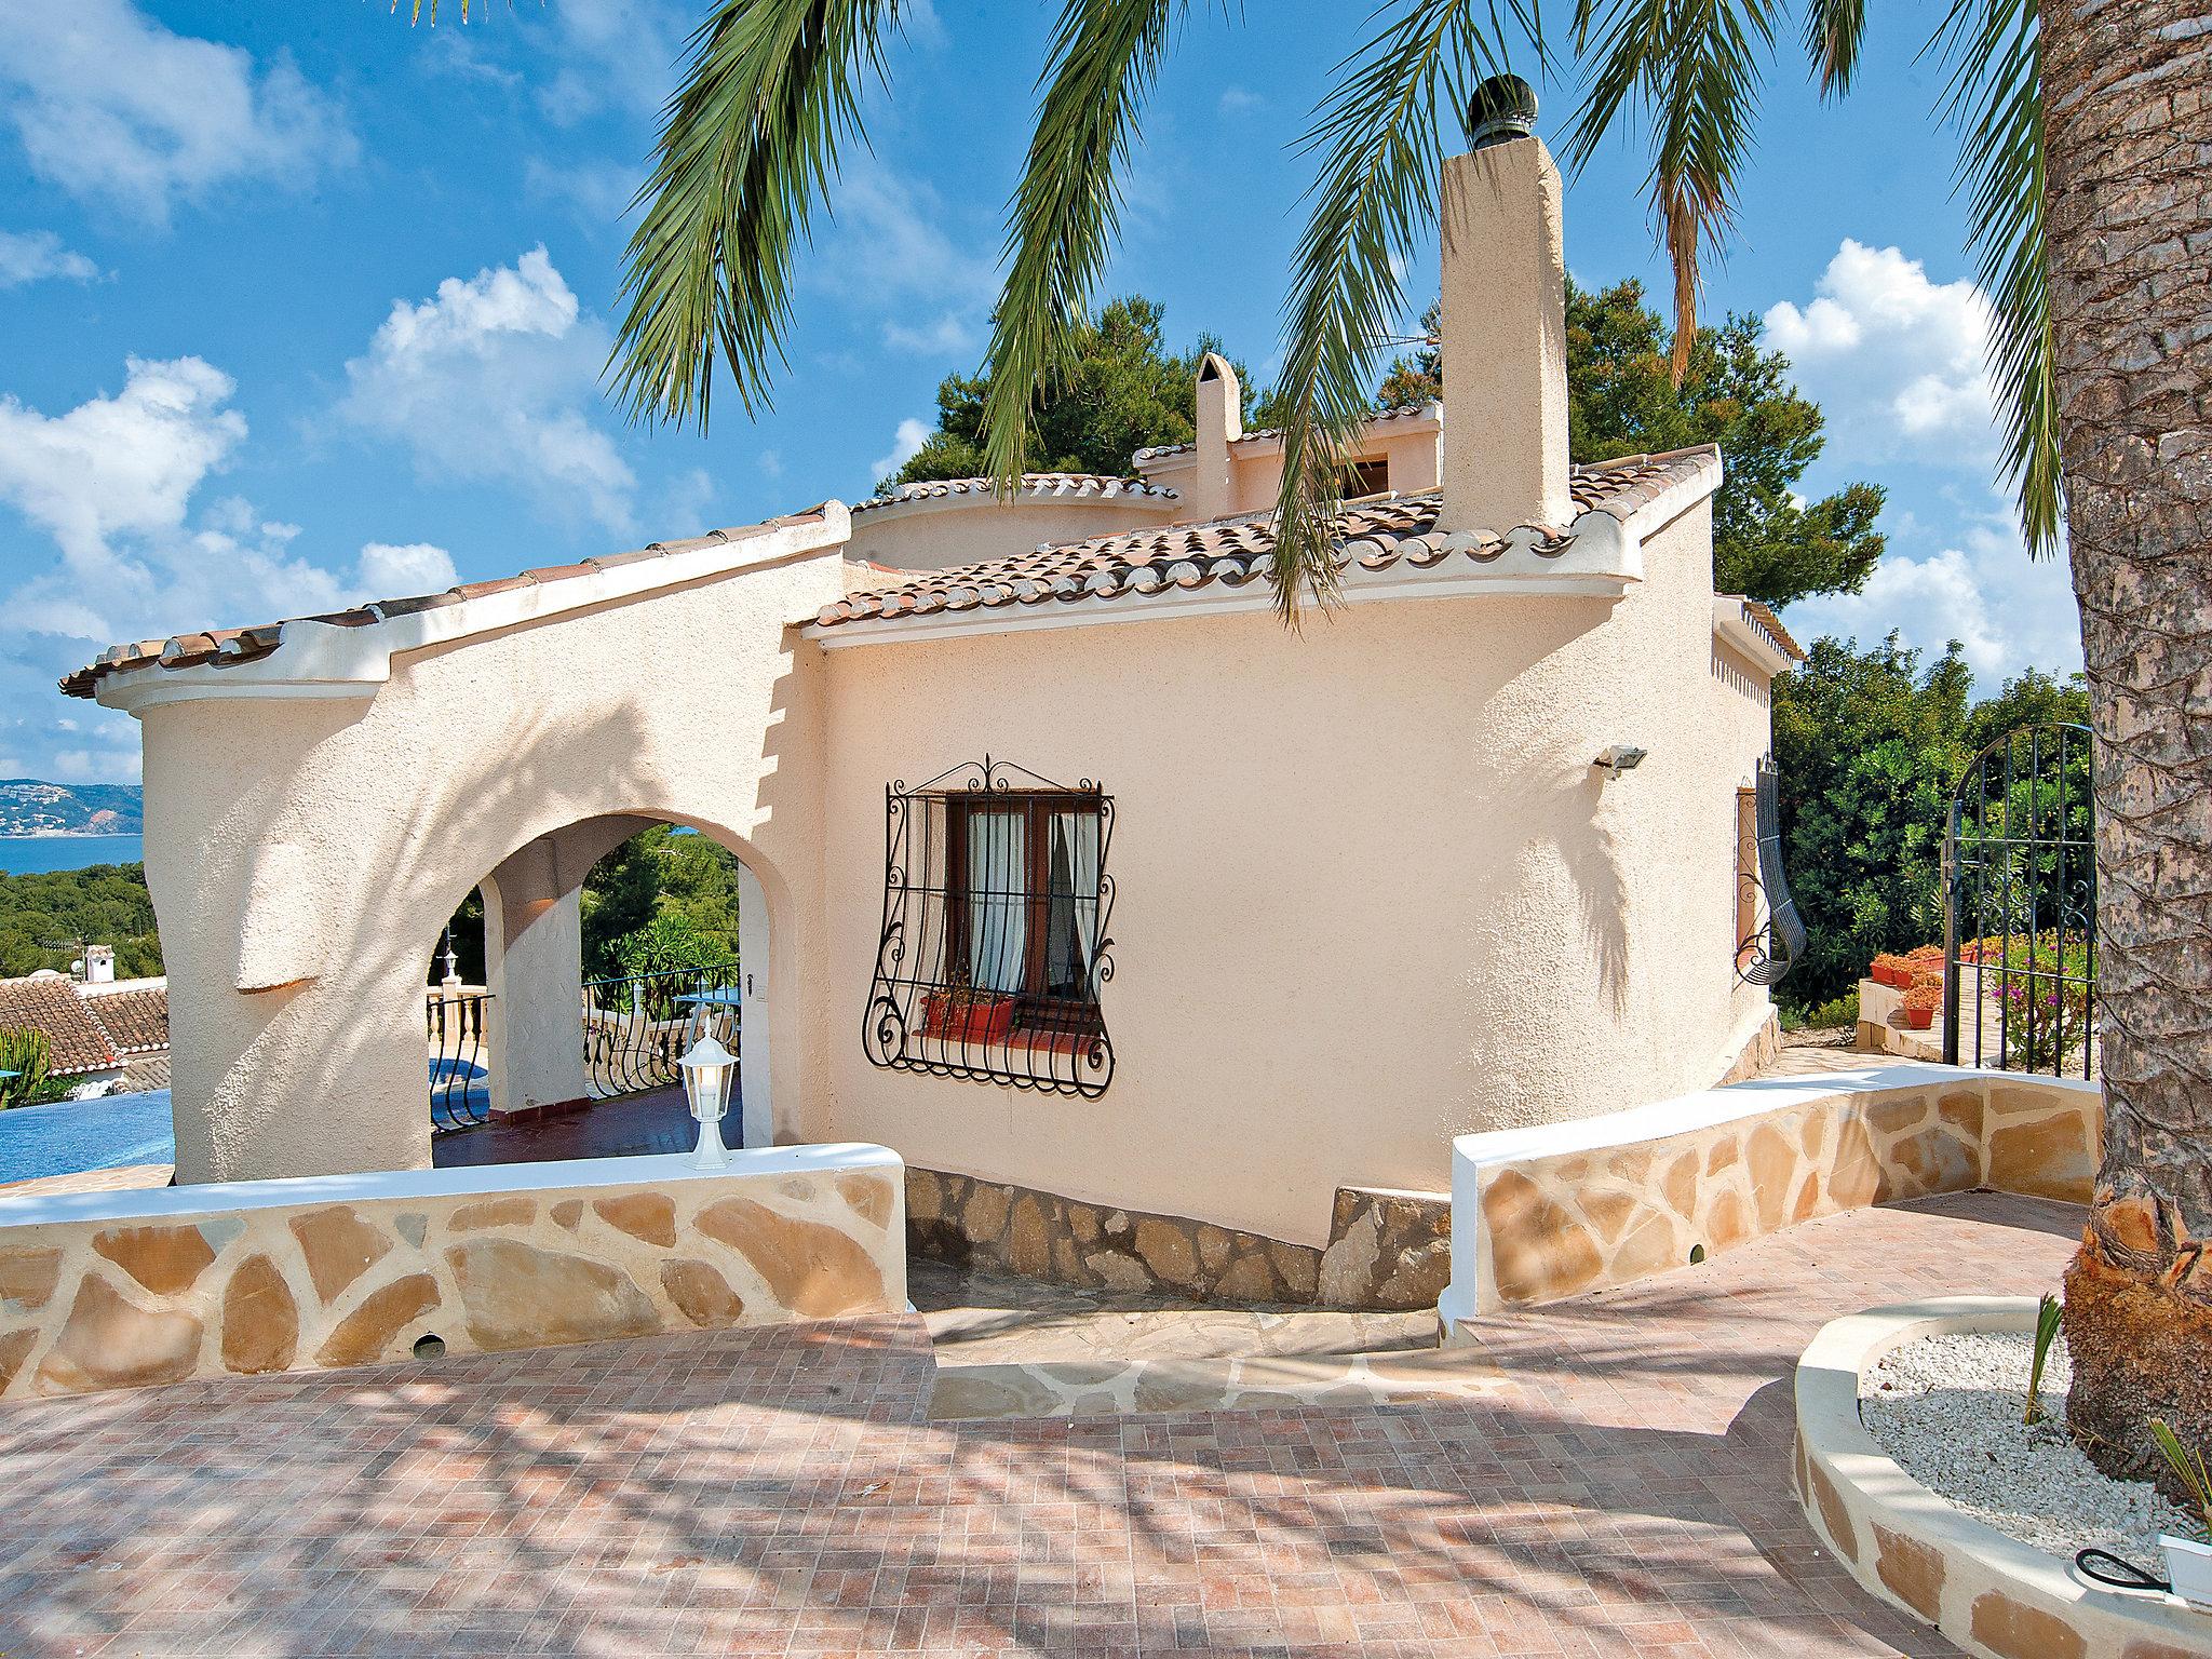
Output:
<path fill-rule="evenodd" d="M 0 1398 L 896 1312 L 902 1234 L 883 1148 L 18 1199 Z"/>

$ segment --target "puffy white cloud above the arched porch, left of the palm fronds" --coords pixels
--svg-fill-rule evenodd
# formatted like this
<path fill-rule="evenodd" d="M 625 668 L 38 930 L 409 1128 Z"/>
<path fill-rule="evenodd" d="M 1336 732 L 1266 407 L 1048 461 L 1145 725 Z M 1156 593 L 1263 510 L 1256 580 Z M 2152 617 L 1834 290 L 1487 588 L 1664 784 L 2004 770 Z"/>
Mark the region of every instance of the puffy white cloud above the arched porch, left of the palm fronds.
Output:
<path fill-rule="evenodd" d="M 549 511 L 624 535 L 637 476 L 593 425 L 608 332 L 584 316 L 544 248 L 396 301 L 345 365 L 341 414 L 409 449 L 425 478 L 498 480 Z"/>

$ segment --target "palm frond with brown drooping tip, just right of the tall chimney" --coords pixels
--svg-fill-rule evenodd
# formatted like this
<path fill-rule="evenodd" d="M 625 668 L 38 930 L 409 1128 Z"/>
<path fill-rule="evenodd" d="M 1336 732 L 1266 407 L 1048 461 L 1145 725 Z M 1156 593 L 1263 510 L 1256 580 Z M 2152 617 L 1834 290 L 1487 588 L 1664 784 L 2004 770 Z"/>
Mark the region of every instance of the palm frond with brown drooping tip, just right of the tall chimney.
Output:
<path fill-rule="evenodd" d="M 1736 175 L 1752 150 L 1759 77 L 1776 0 L 1579 0 L 1588 93 L 1568 139 L 1582 168 L 1635 106 L 1650 126 L 1650 192 L 1674 270 L 1674 385 L 1697 343 L 1699 268 L 1728 237 Z"/>

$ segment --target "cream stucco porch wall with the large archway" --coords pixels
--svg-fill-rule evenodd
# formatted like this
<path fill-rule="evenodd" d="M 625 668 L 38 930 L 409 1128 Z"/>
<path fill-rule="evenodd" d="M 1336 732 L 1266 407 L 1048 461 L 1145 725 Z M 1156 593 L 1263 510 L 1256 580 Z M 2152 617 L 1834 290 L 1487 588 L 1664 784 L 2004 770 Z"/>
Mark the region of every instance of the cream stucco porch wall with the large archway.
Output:
<path fill-rule="evenodd" d="M 425 1166 L 438 929 L 515 849 L 608 814 L 690 823 L 759 878 L 772 945 L 748 967 L 787 991 L 768 1035 L 796 1115 L 823 1006 L 823 737 L 818 653 L 785 622 L 841 591 L 830 540 L 403 655 L 365 699 L 146 708 L 179 1181 Z"/>

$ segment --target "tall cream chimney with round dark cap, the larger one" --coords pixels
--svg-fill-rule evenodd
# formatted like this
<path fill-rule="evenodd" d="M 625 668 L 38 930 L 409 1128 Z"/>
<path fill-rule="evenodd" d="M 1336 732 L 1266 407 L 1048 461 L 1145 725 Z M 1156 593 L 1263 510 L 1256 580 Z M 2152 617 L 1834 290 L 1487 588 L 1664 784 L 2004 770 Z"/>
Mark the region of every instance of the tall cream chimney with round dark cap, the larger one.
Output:
<path fill-rule="evenodd" d="M 1469 155 L 1444 161 L 1447 531 L 1564 526 L 1566 246 L 1559 168 L 1520 75 L 1475 88 Z"/>

